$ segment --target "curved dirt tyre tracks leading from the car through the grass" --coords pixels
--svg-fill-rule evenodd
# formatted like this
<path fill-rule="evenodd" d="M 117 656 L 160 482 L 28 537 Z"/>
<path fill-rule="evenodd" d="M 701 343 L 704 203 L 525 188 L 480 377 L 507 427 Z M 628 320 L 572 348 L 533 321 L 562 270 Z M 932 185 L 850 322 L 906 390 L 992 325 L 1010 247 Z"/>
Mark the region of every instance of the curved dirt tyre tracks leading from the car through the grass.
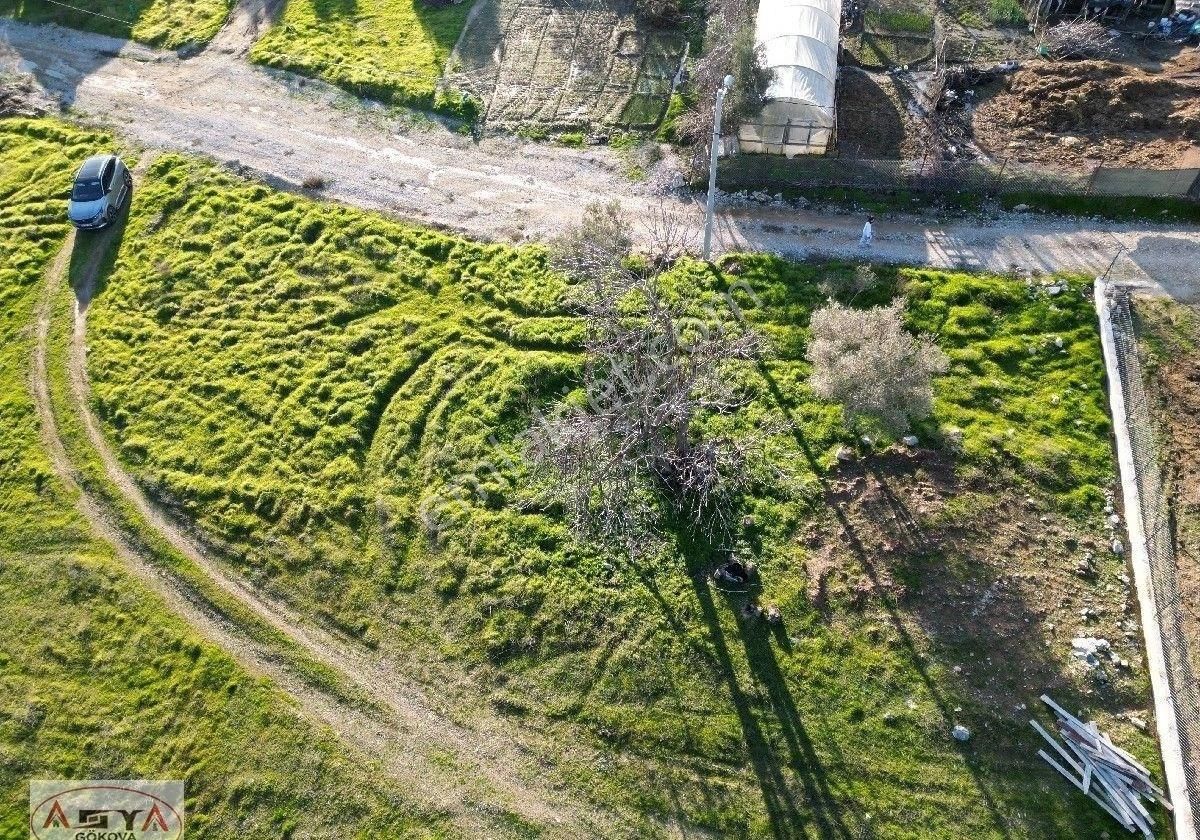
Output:
<path fill-rule="evenodd" d="M 89 244 L 86 259 L 76 277 L 77 306 L 70 346 L 68 377 L 73 412 L 82 420 L 88 443 L 95 449 L 104 473 L 133 504 L 145 521 L 170 545 L 194 563 L 216 586 L 248 607 L 259 619 L 284 634 L 313 660 L 332 668 L 356 686 L 383 710 L 380 715 L 349 706 L 299 679 L 278 656 L 247 637 L 228 618 L 208 606 L 186 583 L 156 566 L 136 548 L 114 524 L 104 505 L 83 488 L 71 463 L 52 410 L 47 376 L 47 344 L 55 290 L 66 282 L 71 257 L 77 247 L 70 236 L 47 272 L 36 312 L 36 344 L 30 372 L 30 389 L 37 407 L 42 439 L 55 472 L 78 493 L 78 508 L 95 532 L 116 551 L 128 569 L 161 595 L 197 632 L 239 659 L 251 671 L 275 680 L 304 714 L 317 720 L 366 752 L 402 782 L 420 805 L 449 814 L 466 836 L 504 836 L 498 828 L 496 808 L 518 814 L 547 836 L 589 836 L 606 834 L 606 816 L 586 806 L 563 802 L 562 796 L 539 790 L 539 769 L 516 742 L 508 737 L 504 721 L 473 721 L 478 728 L 455 724 L 426 702 L 419 689 L 382 658 L 374 656 L 319 628 L 306 624 L 287 606 L 266 600 L 246 587 L 169 521 L 122 470 L 88 408 L 85 370 L 85 316 L 98 266 L 108 251 L 112 228 Z M 437 760 L 431 760 L 437 756 Z M 451 767 L 446 767 L 446 756 Z M 533 780 L 530 782 L 530 780 Z M 502 823 L 503 824 L 503 821 Z"/>

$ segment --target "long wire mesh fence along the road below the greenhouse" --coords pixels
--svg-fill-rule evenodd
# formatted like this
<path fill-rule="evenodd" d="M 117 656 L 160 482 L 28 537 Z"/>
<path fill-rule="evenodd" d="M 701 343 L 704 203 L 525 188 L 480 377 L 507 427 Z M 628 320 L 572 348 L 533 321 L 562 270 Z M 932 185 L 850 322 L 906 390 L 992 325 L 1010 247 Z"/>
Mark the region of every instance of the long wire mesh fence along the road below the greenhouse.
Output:
<path fill-rule="evenodd" d="M 1124 169 L 1080 162 L 1073 172 L 1014 161 L 878 160 L 830 155 L 734 155 L 721 163 L 721 187 L 1200 198 L 1200 169 Z"/>

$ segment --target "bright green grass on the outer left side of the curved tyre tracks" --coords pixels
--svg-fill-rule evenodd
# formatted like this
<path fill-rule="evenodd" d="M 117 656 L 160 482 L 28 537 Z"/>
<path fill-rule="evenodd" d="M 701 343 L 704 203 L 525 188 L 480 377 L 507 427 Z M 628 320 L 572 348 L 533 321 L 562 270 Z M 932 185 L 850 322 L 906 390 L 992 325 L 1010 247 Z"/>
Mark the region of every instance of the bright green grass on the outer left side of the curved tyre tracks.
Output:
<path fill-rule="evenodd" d="M 26 385 L 31 318 L 71 174 L 109 143 L 0 122 L 0 836 L 28 833 L 30 778 L 185 779 L 198 838 L 443 835 L 167 612 L 53 473 Z"/>

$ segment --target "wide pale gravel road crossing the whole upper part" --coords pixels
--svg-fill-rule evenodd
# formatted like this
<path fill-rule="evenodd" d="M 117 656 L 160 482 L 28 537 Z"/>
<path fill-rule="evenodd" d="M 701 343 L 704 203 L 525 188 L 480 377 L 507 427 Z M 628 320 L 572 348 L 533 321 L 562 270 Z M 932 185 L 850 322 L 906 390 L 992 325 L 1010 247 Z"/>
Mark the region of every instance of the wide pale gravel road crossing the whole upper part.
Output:
<path fill-rule="evenodd" d="M 257 7 L 257 6 L 256 6 Z M 298 190 L 322 174 L 324 196 L 485 239 L 544 239 L 589 202 L 622 199 L 635 211 L 659 198 L 631 184 L 604 149 L 563 149 L 516 138 L 469 138 L 440 128 L 402 128 L 382 112 L 287 73 L 238 58 L 245 38 L 190 59 L 54 26 L 0 22 L 0 71 L 29 72 L 77 113 L 101 118 L 131 142 L 196 151 Z M 241 40 L 239 40 L 241 38 Z M 230 53 L 221 44 L 239 44 Z M 667 199 L 694 226 L 700 205 Z M 776 208 L 728 209 L 722 248 L 866 258 L 854 247 L 862 218 Z M 1200 236 L 1186 226 L 1135 226 L 1006 215 L 938 223 L 876 221 L 870 258 L 935 266 L 1100 274 L 1200 300 Z"/>

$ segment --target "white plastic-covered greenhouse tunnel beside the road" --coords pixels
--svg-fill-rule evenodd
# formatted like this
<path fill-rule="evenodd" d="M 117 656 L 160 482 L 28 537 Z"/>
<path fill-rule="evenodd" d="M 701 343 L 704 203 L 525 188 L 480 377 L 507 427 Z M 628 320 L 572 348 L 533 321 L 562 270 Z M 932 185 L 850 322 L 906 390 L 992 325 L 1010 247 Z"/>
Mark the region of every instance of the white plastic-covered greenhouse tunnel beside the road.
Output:
<path fill-rule="evenodd" d="M 760 0 L 755 40 L 773 79 L 742 151 L 822 154 L 833 140 L 841 0 Z"/>

